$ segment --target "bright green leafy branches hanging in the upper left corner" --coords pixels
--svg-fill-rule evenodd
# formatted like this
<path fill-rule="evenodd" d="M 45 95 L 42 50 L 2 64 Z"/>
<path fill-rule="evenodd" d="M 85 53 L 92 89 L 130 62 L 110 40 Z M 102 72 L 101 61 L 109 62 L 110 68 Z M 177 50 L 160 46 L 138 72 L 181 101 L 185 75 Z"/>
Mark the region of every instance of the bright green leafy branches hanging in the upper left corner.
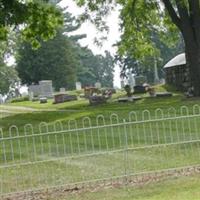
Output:
<path fill-rule="evenodd" d="M 39 39 L 54 37 L 62 22 L 60 10 L 48 0 L 0 0 L 0 40 L 7 40 L 9 30 L 17 29 L 24 40 L 38 47 Z"/>

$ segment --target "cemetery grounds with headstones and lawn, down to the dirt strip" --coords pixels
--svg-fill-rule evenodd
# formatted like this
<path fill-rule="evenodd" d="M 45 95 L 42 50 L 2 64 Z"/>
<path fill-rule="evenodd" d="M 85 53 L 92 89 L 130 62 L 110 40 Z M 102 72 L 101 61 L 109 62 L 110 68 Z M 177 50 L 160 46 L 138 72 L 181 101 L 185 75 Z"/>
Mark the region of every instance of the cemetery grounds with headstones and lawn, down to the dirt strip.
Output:
<path fill-rule="evenodd" d="M 66 191 L 81 192 L 91 183 L 98 188 L 111 180 L 123 186 L 124 177 L 137 183 L 147 176 L 150 182 L 162 176 L 163 182 L 165 170 L 173 174 L 175 169 L 180 177 L 185 173 L 192 177 L 200 170 L 198 102 L 188 102 L 184 94 L 168 91 L 166 85 L 150 85 L 143 76 L 129 74 L 126 83 L 114 89 L 100 83 L 83 88 L 79 82 L 76 90 L 61 87 L 55 92 L 51 80 L 41 80 L 29 87 L 25 101 L 4 104 L 0 108 L 4 113 L 0 117 L 2 197 L 11 193 L 16 199 L 25 198 L 24 192 L 31 189 L 40 190 L 36 195 L 40 198 L 46 188 L 59 190 L 62 185 Z M 13 120 L 15 125 L 10 126 L 7 121 Z M 187 138 L 180 134 L 182 128 Z M 187 171 L 188 165 L 192 170 Z"/>

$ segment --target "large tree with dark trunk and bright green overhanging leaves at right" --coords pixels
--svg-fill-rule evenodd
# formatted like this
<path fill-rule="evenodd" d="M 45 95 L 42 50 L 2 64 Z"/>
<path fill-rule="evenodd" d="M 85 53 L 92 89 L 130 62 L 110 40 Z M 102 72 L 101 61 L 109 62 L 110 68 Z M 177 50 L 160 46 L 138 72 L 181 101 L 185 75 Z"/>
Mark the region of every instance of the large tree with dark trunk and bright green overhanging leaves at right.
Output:
<path fill-rule="evenodd" d="M 194 95 L 200 96 L 200 2 L 198 0 L 76 0 L 80 6 L 86 5 L 90 11 L 98 11 L 98 19 L 103 11 L 121 5 L 122 38 L 120 52 L 132 52 L 136 58 L 155 55 L 157 50 L 151 40 L 152 28 L 163 41 L 173 41 L 181 32 L 187 65 L 190 70 Z M 112 5 L 112 6 L 111 6 Z M 87 15 L 88 18 L 88 13 Z M 98 20 L 99 22 L 100 20 Z M 166 30 L 170 35 L 165 35 Z M 176 32 L 175 32 L 176 31 Z"/>

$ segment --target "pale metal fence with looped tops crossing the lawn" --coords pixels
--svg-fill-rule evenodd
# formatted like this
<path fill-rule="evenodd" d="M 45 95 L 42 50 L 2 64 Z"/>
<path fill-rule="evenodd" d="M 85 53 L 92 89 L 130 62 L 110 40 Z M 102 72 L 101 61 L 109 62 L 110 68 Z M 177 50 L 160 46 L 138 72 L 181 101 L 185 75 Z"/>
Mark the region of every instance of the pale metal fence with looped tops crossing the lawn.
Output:
<path fill-rule="evenodd" d="M 0 129 L 0 196 L 200 165 L 200 107 Z"/>

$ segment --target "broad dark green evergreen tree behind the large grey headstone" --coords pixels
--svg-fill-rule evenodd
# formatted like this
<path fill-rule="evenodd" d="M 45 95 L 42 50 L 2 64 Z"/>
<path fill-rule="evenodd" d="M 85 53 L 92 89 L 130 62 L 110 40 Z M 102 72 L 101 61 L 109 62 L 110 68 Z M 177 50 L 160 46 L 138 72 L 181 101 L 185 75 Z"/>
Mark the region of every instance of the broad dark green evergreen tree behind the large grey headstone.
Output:
<path fill-rule="evenodd" d="M 37 50 L 32 49 L 29 43 L 19 44 L 16 69 L 23 84 L 37 84 L 40 80 L 50 79 L 56 90 L 75 86 L 77 61 L 73 41 L 67 36 L 80 26 L 74 21 L 66 12 L 64 27 L 57 30 L 55 38 L 40 41 L 41 47 Z"/>

